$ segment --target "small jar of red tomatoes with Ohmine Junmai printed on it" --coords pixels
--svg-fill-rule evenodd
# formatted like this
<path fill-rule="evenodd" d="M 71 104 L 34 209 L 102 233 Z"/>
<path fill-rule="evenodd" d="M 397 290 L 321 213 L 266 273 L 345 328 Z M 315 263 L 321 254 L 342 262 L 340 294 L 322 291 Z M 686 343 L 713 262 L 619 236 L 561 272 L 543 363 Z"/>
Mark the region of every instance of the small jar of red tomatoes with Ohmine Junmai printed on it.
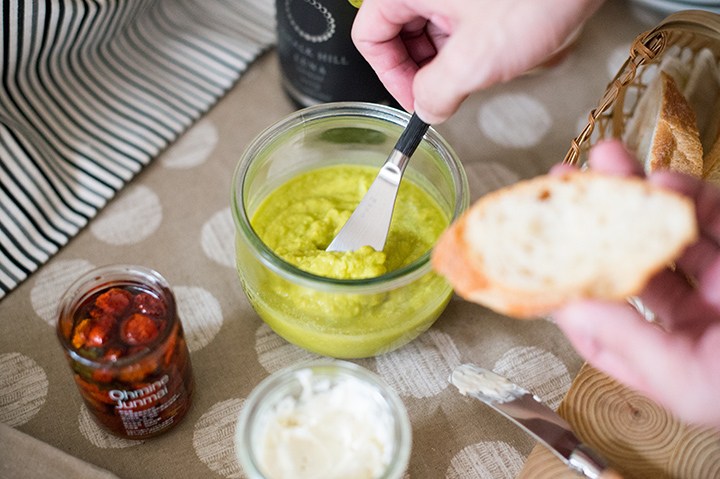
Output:
<path fill-rule="evenodd" d="M 109 432 L 155 436 L 190 408 L 190 355 L 156 271 L 112 265 L 78 278 L 60 300 L 57 333 L 85 404 Z"/>

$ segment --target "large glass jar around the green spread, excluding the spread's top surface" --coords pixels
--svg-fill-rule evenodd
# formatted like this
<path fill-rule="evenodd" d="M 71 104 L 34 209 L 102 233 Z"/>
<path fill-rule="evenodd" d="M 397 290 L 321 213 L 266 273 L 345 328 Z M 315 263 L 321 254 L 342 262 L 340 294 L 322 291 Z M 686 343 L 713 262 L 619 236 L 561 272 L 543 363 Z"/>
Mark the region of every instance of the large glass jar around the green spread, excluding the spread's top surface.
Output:
<path fill-rule="evenodd" d="M 429 249 L 380 276 L 334 279 L 286 262 L 251 224 L 263 200 L 301 173 L 335 165 L 378 171 L 408 119 L 405 112 L 377 104 L 318 105 L 271 126 L 244 151 L 232 191 L 237 270 L 255 311 L 291 343 L 335 358 L 382 354 L 429 328 L 450 300 L 452 288 L 432 270 Z M 426 192 L 447 224 L 468 206 L 462 165 L 432 128 L 402 181 Z"/>

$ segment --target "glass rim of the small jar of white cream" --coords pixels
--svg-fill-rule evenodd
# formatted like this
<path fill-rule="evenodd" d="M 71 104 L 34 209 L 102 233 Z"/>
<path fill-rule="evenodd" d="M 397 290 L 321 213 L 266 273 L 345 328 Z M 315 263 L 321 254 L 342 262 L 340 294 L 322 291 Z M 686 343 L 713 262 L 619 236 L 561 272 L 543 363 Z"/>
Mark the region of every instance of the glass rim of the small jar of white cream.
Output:
<path fill-rule="evenodd" d="M 410 461 L 412 449 L 412 427 L 402 398 L 373 371 L 356 363 L 337 359 L 311 359 L 286 367 L 263 379 L 250 392 L 238 415 L 237 429 L 235 431 L 235 447 L 238 459 L 242 458 L 240 462 L 245 462 L 247 467 L 252 468 L 250 471 L 245 471 L 246 474 L 250 477 L 255 477 L 254 475 L 257 474 L 262 476 L 255 455 L 252 453 L 253 442 L 250 437 L 251 428 L 249 427 L 251 421 L 257 416 L 259 406 L 263 404 L 263 399 L 268 394 L 288 382 L 296 380 L 297 373 L 303 370 L 312 370 L 313 372 L 332 370 L 334 372 L 332 376 L 334 377 L 351 377 L 360 380 L 380 393 L 394 419 L 396 442 L 395 454 L 385 473 L 378 479 L 402 477 Z"/>

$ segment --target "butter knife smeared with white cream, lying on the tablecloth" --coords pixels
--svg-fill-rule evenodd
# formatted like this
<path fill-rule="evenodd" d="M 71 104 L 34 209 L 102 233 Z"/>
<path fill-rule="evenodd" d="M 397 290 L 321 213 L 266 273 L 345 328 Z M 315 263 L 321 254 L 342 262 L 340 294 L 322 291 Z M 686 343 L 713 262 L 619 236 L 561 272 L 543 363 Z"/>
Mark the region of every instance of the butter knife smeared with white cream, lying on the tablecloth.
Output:
<path fill-rule="evenodd" d="M 577 438 L 563 418 L 507 378 L 474 364 L 462 364 L 450 375 L 450 383 L 461 394 L 479 399 L 520 426 L 573 471 L 590 479 L 621 478 Z"/>

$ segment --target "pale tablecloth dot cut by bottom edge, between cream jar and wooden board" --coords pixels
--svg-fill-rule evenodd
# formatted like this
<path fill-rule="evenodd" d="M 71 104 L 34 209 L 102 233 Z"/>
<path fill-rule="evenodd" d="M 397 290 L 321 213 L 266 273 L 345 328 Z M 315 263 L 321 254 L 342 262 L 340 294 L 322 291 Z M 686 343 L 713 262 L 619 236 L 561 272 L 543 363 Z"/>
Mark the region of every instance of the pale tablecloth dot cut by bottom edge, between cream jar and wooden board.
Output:
<path fill-rule="evenodd" d="M 488 441 L 471 444 L 450 461 L 447 479 L 512 479 L 522 470 L 523 456 L 504 442 Z"/>

